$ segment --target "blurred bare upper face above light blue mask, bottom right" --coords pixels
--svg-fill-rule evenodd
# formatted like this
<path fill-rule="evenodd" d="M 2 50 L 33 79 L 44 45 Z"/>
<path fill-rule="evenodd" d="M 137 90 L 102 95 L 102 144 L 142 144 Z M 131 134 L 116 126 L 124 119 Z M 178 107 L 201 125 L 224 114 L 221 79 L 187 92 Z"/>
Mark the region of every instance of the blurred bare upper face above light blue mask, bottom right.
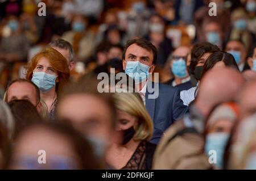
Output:
<path fill-rule="evenodd" d="M 230 133 L 232 131 L 234 121 L 229 119 L 219 119 L 210 128 L 208 133 Z"/>

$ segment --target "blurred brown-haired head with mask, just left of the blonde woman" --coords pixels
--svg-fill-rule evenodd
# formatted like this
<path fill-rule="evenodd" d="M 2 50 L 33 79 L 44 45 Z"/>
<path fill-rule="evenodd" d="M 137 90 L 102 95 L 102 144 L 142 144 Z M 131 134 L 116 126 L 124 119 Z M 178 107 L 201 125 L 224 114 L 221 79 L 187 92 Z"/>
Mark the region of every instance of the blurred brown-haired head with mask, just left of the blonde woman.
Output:
<path fill-rule="evenodd" d="M 104 157 L 115 128 L 112 96 L 99 93 L 97 77 L 86 75 L 65 87 L 57 105 L 57 117 L 68 121 L 92 143 L 99 157 Z"/>

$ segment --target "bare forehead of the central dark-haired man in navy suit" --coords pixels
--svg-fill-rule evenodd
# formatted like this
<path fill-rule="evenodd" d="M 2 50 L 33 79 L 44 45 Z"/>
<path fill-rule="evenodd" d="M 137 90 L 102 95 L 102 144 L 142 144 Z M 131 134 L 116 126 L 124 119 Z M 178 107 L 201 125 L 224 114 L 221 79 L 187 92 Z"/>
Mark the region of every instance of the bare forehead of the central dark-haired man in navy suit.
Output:
<path fill-rule="evenodd" d="M 153 53 L 150 50 L 142 48 L 142 47 L 140 47 L 139 45 L 137 45 L 135 43 L 130 45 L 130 47 L 127 48 L 125 55 L 127 56 L 128 54 L 134 54 L 137 57 L 148 56 L 151 59 L 153 59 Z"/>

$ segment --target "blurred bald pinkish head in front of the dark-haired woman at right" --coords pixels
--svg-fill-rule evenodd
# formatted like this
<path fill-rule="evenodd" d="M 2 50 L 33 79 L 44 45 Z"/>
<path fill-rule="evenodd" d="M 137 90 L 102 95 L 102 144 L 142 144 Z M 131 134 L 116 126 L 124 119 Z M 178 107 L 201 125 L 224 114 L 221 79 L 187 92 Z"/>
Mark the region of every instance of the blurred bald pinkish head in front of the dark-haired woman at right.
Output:
<path fill-rule="evenodd" d="M 242 85 L 243 78 L 237 70 L 232 68 L 209 70 L 200 83 L 195 107 L 201 115 L 208 116 L 210 110 L 217 104 L 235 100 Z M 200 123 L 199 127 L 200 131 L 203 131 L 203 123 Z"/>

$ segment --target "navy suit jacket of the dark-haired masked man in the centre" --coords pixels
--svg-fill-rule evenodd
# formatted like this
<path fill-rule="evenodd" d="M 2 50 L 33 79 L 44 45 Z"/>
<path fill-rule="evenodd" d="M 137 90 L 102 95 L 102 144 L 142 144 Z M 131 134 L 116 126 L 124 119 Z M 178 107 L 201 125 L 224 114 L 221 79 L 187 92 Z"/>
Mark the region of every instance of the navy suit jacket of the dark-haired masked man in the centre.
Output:
<path fill-rule="evenodd" d="M 150 90 L 150 87 L 157 87 L 156 84 L 159 87 L 158 97 L 150 99 L 148 96 L 155 93 L 152 92 L 152 89 Z M 163 132 L 183 116 L 188 111 L 188 107 L 184 106 L 180 99 L 180 90 L 177 87 L 154 82 L 152 82 L 152 86 L 148 86 L 147 83 L 145 102 L 146 109 L 154 124 L 154 134 L 150 142 L 158 144 Z"/>

